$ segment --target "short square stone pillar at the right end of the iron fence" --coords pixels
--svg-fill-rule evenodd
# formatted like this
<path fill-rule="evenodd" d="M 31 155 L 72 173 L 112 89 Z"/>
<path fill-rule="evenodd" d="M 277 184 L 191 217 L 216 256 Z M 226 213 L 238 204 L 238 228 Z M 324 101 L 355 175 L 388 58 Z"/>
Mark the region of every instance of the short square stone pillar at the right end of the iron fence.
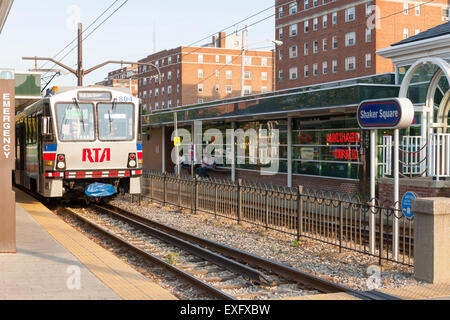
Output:
<path fill-rule="evenodd" d="M 450 283 L 450 198 L 413 201 L 414 276 Z"/>

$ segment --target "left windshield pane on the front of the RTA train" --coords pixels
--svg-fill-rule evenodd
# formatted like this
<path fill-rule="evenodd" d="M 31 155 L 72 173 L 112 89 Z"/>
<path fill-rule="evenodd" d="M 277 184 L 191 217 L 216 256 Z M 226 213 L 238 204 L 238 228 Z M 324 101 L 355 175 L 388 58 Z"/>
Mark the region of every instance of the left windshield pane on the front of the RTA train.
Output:
<path fill-rule="evenodd" d="M 95 140 L 94 106 L 90 103 L 57 103 L 56 117 L 61 141 Z"/>

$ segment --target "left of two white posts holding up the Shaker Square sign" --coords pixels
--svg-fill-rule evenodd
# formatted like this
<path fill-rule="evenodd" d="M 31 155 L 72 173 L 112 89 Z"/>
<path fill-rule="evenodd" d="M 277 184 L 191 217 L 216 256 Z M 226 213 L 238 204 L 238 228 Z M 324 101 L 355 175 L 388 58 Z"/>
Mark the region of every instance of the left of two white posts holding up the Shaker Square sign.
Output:
<path fill-rule="evenodd" d="M 376 130 L 370 130 L 370 201 L 371 209 L 369 211 L 369 247 L 370 253 L 375 254 L 375 186 L 376 186 L 376 168 L 377 168 L 377 152 L 376 152 Z"/>

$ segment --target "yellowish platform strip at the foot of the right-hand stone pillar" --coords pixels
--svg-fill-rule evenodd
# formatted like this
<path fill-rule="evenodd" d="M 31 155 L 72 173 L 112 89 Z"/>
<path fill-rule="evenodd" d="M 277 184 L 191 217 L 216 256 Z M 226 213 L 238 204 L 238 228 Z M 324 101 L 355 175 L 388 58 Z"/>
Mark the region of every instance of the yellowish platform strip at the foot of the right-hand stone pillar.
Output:
<path fill-rule="evenodd" d="M 450 296 L 450 283 L 425 284 L 395 289 L 379 290 L 404 300 L 439 299 Z"/>

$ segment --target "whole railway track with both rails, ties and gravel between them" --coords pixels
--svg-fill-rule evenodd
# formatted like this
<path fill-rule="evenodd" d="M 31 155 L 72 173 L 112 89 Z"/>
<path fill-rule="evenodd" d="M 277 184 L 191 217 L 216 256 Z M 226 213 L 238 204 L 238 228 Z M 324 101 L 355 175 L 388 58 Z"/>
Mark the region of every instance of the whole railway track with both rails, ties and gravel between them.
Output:
<path fill-rule="evenodd" d="M 393 297 L 361 293 L 297 269 L 196 237 L 109 205 L 60 208 L 138 255 L 165 267 L 218 299 L 272 299 L 346 292 L 364 300 Z"/>

